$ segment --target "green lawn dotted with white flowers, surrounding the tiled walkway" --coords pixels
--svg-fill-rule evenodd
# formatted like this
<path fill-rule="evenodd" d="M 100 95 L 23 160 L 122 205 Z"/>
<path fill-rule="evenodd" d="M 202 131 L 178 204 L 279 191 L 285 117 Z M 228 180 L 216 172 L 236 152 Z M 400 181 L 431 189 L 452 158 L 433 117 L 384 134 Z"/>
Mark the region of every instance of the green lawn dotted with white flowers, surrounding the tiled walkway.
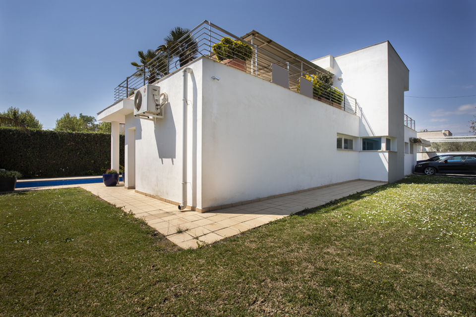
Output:
<path fill-rule="evenodd" d="M 0 316 L 476 316 L 475 193 L 412 176 L 196 250 L 80 189 L 0 195 Z"/>

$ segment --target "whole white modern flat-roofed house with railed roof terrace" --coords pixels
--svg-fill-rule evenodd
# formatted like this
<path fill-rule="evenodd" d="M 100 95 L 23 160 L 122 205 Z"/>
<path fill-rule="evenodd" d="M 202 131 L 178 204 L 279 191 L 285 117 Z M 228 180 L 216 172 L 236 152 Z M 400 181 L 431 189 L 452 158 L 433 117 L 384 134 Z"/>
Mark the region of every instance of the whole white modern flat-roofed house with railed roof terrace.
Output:
<path fill-rule="evenodd" d="M 390 42 L 310 62 L 252 31 L 240 38 L 253 49 L 242 71 L 211 50 L 223 36 L 237 37 L 207 21 L 191 33 L 199 48 L 193 60 L 180 66 L 171 58 L 167 72 L 152 79 L 152 68 L 144 68 L 98 113 L 112 122 L 112 168 L 119 167 L 125 123 L 125 188 L 209 211 L 356 179 L 394 182 L 412 172 L 409 70 Z M 313 98 L 302 76 L 317 73 L 330 74 L 344 94 L 337 104 Z M 160 117 L 134 116 L 134 89 L 150 89 L 148 82 L 160 87 Z"/>

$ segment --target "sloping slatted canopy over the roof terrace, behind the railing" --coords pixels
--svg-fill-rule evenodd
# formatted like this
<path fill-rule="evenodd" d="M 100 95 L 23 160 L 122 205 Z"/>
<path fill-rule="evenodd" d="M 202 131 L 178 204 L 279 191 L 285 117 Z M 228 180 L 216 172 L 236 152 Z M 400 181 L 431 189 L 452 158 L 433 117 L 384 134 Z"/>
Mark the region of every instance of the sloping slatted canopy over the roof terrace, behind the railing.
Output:
<path fill-rule="evenodd" d="M 249 43 L 252 43 L 253 45 L 256 45 L 258 48 L 265 49 L 267 52 L 272 53 L 279 59 L 289 62 L 290 65 L 295 66 L 297 69 L 301 69 L 302 67 L 302 71 L 308 74 L 315 75 L 318 72 L 324 74 L 332 74 L 331 72 L 325 70 L 322 67 L 317 66 L 316 64 L 305 59 L 304 57 L 301 57 L 296 53 L 291 52 L 284 46 L 279 45 L 278 43 L 262 35 L 258 31 L 253 30 L 243 35 L 241 38 Z"/>

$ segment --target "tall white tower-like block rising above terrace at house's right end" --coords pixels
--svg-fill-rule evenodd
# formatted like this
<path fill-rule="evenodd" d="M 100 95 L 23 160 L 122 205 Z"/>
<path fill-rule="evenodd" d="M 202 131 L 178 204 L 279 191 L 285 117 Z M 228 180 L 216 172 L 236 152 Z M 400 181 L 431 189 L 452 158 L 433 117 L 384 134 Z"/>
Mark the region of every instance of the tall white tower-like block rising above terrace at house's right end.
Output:
<path fill-rule="evenodd" d="M 326 56 L 327 57 L 327 56 Z M 328 64 L 327 58 L 314 61 Z M 404 176 L 403 114 L 404 91 L 408 90 L 408 68 L 388 41 L 334 57 L 334 86 L 357 99 L 361 108 L 359 136 L 380 136 L 392 140 L 392 152 L 379 155 L 378 166 L 367 170 L 368 154 L 361 156 L 361 178 L 369 172 L 377 179 L 387 177 L 394 182 Z M 342 80 L 338 80 L 342 77 Z M 373 157 L 370 160 L 374 160 Z"/>

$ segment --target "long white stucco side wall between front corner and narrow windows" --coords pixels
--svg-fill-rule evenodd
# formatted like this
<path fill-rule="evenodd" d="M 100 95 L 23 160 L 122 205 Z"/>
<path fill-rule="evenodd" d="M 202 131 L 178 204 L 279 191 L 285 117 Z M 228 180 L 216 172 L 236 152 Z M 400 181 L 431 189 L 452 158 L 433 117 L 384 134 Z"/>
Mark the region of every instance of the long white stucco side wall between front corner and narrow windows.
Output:
<path fill-rule="evenodd" d="M 203 63 L 203 208 L 359 178 L 358 152 L 336 149 L 337 133 L 357 136 L 356 115 Z"/>

